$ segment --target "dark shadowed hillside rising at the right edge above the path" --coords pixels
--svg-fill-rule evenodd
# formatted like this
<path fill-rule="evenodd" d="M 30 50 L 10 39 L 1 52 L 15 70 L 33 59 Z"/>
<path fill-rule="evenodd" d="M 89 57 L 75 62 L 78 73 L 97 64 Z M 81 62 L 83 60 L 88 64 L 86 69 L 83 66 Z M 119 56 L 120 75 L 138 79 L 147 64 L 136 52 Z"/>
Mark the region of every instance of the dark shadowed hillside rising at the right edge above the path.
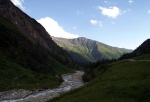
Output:
<path fill-rule="evenodd" d="M 150 53 L 150 39 L 144 41 L 137 49 L 135 49 L 132 53 L 124 54 L 120 57 L 120 59 L 128 59 L 132 57 L 137 57 L 140 55 L 144 55 Z"/>

